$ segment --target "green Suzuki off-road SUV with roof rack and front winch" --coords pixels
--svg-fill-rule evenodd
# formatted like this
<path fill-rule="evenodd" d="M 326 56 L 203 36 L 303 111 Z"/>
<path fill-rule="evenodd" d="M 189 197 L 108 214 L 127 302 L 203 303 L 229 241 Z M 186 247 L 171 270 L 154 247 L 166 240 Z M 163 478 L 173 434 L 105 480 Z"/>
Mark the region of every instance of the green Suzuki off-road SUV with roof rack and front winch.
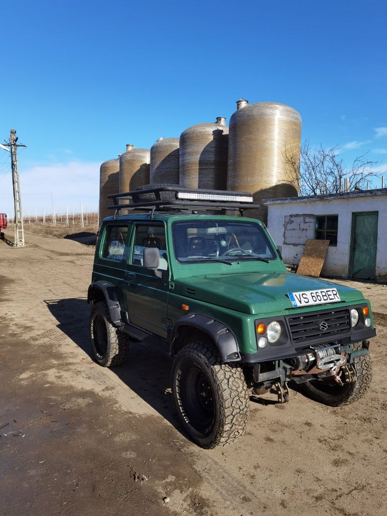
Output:
<path fill-rule="evenodd" d="M 149 185 L 109 197 L 115 215 L 102 222 L 88 291 L 93 356 L 119 365 L 133 341 L 172 356 L 173 400 L 192 441 L 233 442 L 249 397 L 288 401 L 291 380 L 334 407 L 366 392 L 369 301 L 288 272 L 265 225 L 243 217 L 257 207 L 250 193 Z"/>

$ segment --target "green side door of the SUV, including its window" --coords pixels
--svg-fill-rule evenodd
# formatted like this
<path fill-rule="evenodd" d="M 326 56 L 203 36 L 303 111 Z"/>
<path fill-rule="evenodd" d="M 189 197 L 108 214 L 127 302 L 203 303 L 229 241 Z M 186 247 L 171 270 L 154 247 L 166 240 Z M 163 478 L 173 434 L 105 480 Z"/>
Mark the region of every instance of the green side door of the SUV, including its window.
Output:
<path fill-rule="evenodd" d="M 138 222 L 125 276 L 128 318 L 139 328 L 158 337 L 168 336 L 169 263 L 164 224 Z M 143 266 L 143 250 L 159 250 L 157 271 Z"/>

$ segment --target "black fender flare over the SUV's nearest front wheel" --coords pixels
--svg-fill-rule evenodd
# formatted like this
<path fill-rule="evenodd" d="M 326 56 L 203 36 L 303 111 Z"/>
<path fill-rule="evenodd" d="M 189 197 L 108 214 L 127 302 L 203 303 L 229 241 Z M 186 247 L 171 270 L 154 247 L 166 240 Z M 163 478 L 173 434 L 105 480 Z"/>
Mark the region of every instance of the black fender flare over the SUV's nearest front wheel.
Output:
<path fill-rule="evenodd" d="M 215 342 L 222 362 L 239 362 L 241 360 L 238 342 L 233 332 L 223 322 L 201 314 L 183 315 L 173 325 L 171 350 L 179 335 L 179 328 L 182 326 L 191 326 L 207 333 Z"/>

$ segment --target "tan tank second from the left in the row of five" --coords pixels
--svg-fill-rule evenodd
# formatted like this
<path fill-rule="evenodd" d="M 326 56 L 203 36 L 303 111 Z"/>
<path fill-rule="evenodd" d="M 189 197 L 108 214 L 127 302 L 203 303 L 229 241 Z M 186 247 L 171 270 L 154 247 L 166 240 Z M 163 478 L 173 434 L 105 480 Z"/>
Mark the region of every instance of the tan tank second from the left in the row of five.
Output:
<path fill-rule="evenodd" d="M 149 167 L 151 153 L 149 149 L 136 149 L 133 145 L 126 145 L 126 152 L 120 156 L 120 192 L 135 190 L 139 186 L 149 184 Z M 121 201 L 128 204 L 128 201 Z M 122 210 L 121 214 L 128 213 Z"/>

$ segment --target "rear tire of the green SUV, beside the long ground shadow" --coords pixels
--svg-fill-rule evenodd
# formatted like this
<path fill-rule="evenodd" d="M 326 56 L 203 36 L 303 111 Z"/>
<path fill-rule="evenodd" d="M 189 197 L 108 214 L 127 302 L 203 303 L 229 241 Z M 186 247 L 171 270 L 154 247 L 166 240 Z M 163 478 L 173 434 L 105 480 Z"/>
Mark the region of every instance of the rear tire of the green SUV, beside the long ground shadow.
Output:
<path fill-rule="evenodd" d="M 94 360 L 104 367 L 122 364 L 129 351 L 130 337 L 112 324 L 105 301 L 93 304 L 89 326 Z"/>

